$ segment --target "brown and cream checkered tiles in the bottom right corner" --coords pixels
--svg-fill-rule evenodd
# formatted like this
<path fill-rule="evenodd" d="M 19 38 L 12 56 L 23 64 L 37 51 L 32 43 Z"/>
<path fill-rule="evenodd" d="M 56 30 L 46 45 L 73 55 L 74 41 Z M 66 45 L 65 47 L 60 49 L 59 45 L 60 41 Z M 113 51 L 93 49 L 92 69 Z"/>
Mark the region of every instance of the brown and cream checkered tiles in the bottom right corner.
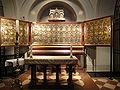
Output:
<path fill-rule="evenodd" d="M 93 78 L 93 81 L 100 90 L 120 90 L 120 82 L 116 79 L 110 80 L 105 77 L 96 77 Z"/>

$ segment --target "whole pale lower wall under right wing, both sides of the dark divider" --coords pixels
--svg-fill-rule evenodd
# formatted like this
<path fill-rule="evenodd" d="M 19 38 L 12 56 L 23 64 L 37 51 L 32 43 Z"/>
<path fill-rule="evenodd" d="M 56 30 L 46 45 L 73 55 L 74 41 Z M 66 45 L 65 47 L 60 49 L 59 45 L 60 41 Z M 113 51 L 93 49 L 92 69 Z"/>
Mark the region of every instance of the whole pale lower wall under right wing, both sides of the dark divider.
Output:
<path fill-rule="evenodd" d="M 96 59 L 87 55 L 88 72 L 110 71 L 110 47 L 96 47 Z"/>

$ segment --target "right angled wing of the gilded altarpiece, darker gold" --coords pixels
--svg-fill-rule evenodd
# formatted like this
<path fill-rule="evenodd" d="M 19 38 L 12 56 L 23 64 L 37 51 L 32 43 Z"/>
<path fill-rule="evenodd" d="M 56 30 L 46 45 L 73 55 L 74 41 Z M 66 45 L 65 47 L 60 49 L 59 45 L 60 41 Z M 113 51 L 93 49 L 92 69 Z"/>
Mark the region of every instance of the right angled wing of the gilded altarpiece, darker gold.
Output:
<path fill-rule="evenodd" d="M 110 45 L 111 17 L 85 22 L 85 44 Z"/>

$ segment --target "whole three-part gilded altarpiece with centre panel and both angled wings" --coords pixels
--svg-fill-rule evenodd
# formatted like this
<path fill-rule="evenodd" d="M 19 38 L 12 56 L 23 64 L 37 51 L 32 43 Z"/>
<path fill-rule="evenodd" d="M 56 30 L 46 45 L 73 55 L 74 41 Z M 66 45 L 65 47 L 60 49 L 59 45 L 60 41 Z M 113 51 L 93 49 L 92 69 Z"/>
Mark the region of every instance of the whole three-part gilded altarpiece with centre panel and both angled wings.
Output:
<path fill-rule="evenodd" d="M 0 46 L 39 44 L 111 45 L 112 17 L 86 22 L 37 22 L 0 17 Z M 17 35 L 16 35 L 17 34 Z"/>

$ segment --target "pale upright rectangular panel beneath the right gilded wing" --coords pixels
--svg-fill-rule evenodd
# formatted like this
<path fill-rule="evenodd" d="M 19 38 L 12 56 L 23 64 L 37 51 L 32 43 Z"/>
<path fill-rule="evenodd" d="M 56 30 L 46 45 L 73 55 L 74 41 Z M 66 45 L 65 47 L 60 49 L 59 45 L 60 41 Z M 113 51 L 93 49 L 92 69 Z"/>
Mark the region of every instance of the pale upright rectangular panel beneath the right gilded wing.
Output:
<path fill-rule="evenodd" d="M 110 47 L 96 49 L 96 71 L 110 71 Z"/>

